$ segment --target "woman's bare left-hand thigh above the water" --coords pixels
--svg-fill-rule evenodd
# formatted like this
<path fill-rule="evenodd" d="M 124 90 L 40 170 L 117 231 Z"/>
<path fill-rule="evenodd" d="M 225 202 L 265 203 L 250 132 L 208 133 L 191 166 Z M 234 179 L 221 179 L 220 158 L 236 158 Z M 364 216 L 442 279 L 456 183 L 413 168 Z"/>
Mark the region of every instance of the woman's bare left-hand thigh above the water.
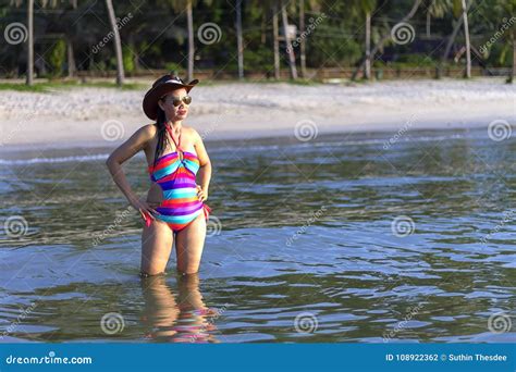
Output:
<path fill-rule="evenodd" d="M 164 272 L 173 244 L 172 230 L 162 221 L 152 220 L 142 233 L 142 273 Z"/>

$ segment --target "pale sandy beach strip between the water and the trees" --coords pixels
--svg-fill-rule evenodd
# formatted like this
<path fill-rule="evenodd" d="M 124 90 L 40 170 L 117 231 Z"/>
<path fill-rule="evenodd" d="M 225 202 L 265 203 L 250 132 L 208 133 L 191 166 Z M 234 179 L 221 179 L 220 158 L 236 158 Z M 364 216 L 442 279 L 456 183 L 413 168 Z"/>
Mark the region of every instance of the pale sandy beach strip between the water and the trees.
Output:
<path fill-rule="evenodd" d="M 142 110 L 145 91 L 3 90 L 2 148 L 115 145 L 150 123 Z M 221 83 L 199 85 L 192 96 L 185 124 L 207 141 L 293 136 L 296 125 L 332 133 L 488 126 L 494 120 L 516 123 L 516 87 L 503 79 L 312 86 Z"/>

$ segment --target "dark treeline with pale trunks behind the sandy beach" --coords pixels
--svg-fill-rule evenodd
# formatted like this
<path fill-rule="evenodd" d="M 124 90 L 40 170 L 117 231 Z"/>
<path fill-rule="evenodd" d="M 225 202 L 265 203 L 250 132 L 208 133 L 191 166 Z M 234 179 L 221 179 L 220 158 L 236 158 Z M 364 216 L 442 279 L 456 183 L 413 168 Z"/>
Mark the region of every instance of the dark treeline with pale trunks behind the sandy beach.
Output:
<path fill-rule="evenodd" d="M 202 71 L 293 79 L 450 66 L 514 75 L 516 0 L 9 0 L 2 77 Z M 30 47 L 33 46 L 33 48 Z M 377 75 L 374 75 L 377 72 Z"/>

